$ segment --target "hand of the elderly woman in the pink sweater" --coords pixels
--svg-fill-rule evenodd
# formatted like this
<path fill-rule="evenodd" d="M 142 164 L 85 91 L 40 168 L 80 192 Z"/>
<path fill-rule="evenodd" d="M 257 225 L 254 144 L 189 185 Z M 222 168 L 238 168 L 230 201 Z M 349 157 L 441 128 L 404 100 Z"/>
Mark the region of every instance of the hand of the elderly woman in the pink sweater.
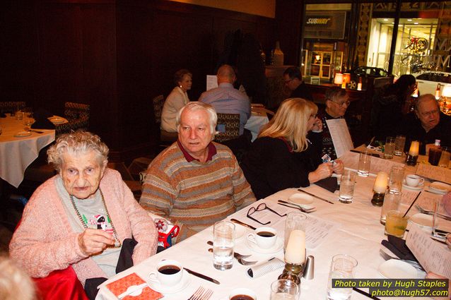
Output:
<path fill-rule="evenodd" d="M 108 234 L 101 229 L 85 229 L 80 235 L 78 235 L 78 245 L 81 252 L 86 256 L 92 256 L 96 253 L 100 253 L 108 246 L 113 246 L 115 239 L 112 234 Z"/>

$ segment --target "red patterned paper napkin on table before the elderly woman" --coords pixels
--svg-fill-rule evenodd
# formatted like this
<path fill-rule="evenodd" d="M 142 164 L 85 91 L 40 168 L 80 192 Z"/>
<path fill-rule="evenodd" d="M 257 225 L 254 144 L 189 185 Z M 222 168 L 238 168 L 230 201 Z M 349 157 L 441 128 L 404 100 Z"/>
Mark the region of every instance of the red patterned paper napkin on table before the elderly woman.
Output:
<path fill-rule="evenodd" d="M 141 277 L 139 277 L 136 273 L 131 273 L 125 277 L 122 277 L 119 280 L 111 282 L 107 284 L 107 289 L 115 294 L 115 296 L 119 296 L 123 292 L 126 292 L 129 287 L 132 285 L 139 285 L 146 283 Z M 163 294 L 154 291 L 150 287 L 144 287 L 142 289 L 141 294 L 138 296 L 124 296 L 123 300 L 157 300 L 163 298 Z"/>

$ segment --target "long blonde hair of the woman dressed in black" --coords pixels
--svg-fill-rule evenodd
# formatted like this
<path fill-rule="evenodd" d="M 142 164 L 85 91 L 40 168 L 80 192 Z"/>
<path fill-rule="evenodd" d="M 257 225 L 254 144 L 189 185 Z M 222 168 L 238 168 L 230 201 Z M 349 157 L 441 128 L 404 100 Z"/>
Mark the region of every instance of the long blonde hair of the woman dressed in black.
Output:
<path fill-rule="evenodd" d="M 266 124 L 259 137 L 285 138 L 294 152 L 307 149 L 307 121 L 310 116 L 317 114 L 315 103 L 302 98 L 288 98 L 283 100 L 281 106 Z"/>

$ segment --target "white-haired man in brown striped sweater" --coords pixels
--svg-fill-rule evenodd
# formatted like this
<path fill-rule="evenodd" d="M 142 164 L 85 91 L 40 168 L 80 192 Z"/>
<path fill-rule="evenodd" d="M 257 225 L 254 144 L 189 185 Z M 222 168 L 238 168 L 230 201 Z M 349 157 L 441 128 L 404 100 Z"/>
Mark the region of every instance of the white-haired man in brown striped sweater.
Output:
<path fill-rule="evenodd" d="M 149 164 L 139 203 L 180 227 L 177 242 L 255 201 L 235 156 L 212 142 L 215 109 L 189 102 L 177 114 L 179 138 Z"/>

